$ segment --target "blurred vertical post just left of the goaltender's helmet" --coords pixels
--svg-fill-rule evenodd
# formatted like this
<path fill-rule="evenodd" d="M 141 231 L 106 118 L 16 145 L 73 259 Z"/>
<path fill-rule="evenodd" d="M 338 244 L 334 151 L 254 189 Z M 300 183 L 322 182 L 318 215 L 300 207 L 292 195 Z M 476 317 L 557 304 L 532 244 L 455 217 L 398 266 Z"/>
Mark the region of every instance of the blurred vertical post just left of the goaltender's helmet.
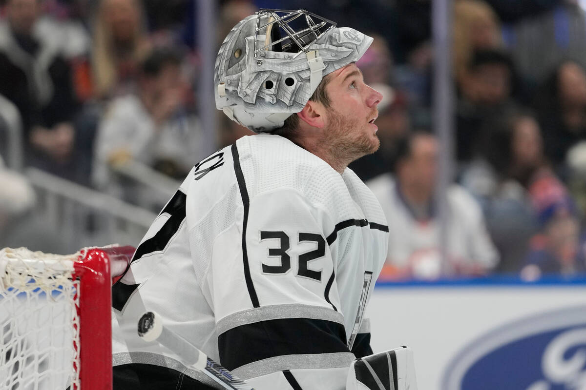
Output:
<path fill-rule="evenodd" d="M 214 100 L 214 65 L 216 63 L 216 0 L 193 0 L 196 6 L 197 50 L 201 58 L 201 71 L 197 86 L 197 107 L 202 123 L 205 153 L 216 150 L 216 102 Z M 203 157 L 203 156 L 202 156 Z"/>

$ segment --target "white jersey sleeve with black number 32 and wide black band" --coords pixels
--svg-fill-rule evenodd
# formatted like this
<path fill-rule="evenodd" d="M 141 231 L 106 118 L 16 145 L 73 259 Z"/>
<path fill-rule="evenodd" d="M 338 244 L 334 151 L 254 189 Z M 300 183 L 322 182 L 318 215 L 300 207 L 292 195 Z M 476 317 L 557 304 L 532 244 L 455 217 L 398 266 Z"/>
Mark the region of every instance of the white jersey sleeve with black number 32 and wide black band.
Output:
<path fill-rule="evenodd" d="M 257 389 L 343 388 L 346 346 L 332 222 L 293 189 L 243 196 L 239 253 L 214 245 L 207 288 L 220 363 Z M 218 249 L 216 251 L 216 249 Z M 227 261 L 227 259 L 230 259 Z"/>

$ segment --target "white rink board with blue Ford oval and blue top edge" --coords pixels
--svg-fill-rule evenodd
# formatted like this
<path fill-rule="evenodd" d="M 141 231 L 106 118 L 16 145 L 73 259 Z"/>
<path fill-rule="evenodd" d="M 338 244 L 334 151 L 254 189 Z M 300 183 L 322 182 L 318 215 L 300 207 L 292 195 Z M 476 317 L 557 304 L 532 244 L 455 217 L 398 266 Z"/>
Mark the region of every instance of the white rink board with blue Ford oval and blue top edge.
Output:
<path fill-rule="evenodd" d="M 378 282 L 375 352 L 413 348 L 423 390 L 586 388 L 586 278 Z"/>

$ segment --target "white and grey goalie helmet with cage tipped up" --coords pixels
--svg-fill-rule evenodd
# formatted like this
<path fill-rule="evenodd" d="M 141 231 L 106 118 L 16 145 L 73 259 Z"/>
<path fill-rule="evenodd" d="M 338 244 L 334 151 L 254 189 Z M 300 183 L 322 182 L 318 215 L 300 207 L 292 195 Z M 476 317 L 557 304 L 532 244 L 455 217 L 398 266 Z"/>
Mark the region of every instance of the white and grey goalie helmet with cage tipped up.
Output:
<path fill-rule="evenodd" d="M 241 20 L 216 57 L 216 107 L 255 133 L 283 126 L 322 78 L 354 63 L 372 38 L 301 9 L 261 9 Z"/>

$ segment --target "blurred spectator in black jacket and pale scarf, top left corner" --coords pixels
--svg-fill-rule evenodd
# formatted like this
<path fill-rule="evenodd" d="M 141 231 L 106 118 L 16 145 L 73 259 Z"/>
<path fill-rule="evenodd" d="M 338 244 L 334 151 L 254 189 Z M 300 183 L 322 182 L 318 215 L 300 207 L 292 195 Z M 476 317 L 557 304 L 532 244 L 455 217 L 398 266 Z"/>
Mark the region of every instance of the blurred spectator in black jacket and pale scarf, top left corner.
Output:
<path fill-rule="evenodd" d="M 21 113 L 26 161 L 74 180 L 79 105 L 61 45 L 39 31 L 38 0 L 8 0 L 0 23 L 0 94 Z"/>

